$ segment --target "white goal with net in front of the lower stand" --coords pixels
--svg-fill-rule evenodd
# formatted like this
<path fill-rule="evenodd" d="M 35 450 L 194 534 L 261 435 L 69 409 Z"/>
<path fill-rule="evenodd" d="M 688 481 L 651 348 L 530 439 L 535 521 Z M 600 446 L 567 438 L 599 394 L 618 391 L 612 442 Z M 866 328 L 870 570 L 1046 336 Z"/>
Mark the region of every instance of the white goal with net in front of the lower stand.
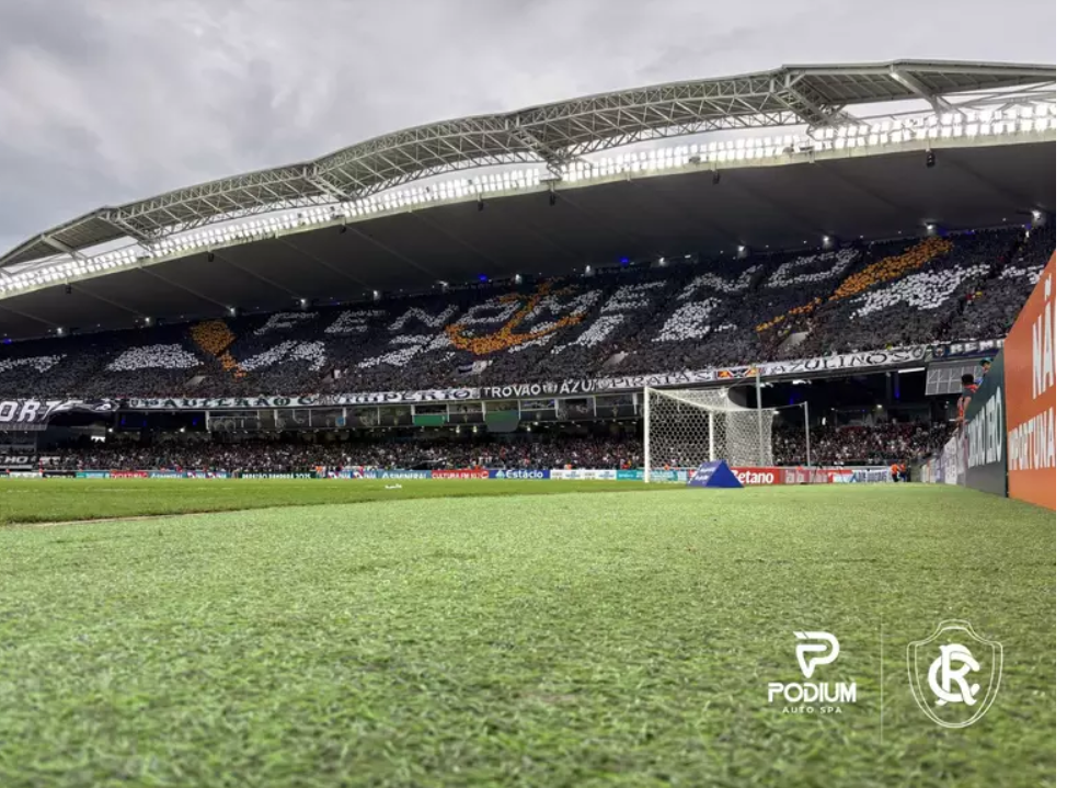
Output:
<path fill-rule="evenodd" d="M 643 393 L 644 480 L 674 480 L 661 471 L 697 468 L 713 459 L 730 466 L 773 465 L 770 408 L 743 408 L 730 389 L 653 389 Z"/>

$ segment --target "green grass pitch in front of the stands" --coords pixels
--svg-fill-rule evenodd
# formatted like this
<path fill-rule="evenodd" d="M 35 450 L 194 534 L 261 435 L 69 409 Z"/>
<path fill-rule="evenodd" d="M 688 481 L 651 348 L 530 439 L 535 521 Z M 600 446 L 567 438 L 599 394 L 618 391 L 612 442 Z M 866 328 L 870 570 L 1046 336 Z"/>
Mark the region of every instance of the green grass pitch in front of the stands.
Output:
<path fill-rule="evenodd" d="M 0 482 L 0 787 L 1055 781 L 1052 512 L 923 486 L 400 483 Z M 962 730 L 907 681 L 907 643 L 949 618 L 1005 649 Z M 767 701 L 801 681 L 796 630 L 839 638 L 842 713 Z"/>

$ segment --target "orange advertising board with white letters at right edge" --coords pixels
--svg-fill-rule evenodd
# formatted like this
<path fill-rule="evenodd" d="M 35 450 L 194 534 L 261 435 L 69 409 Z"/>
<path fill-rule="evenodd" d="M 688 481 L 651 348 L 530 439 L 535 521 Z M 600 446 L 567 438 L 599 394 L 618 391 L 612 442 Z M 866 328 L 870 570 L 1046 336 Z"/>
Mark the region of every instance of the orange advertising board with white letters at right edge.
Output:
<path fill-rule="evenodd" d="M 1003 343 L 1007 484 L 1011 498 L 1056 509 L 1056 254 Z"/>

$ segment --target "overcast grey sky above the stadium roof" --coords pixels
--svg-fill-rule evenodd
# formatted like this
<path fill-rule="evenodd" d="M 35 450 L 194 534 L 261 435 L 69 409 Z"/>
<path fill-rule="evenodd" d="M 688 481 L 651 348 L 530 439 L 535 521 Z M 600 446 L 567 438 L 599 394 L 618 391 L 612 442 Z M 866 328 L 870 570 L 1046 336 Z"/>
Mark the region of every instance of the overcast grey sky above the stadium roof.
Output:
<path fill-rule="evenodd" d="M 784 64 L 1056 59 L 1051 1 L 0 0 L 0 252 L 385 132 Z"/>

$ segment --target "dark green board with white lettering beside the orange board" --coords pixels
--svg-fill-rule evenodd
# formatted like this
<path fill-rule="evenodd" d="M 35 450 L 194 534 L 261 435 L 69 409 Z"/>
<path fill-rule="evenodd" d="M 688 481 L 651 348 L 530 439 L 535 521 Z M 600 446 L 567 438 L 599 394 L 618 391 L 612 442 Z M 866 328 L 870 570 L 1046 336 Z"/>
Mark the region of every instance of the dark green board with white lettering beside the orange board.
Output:
<path fill-rule="evenodd" d="M 991 359 L 991 369 L 965 409 L 965 486 L 1007 494 L 1007 422 L 1003 402 L 1003 353 Z"/>

